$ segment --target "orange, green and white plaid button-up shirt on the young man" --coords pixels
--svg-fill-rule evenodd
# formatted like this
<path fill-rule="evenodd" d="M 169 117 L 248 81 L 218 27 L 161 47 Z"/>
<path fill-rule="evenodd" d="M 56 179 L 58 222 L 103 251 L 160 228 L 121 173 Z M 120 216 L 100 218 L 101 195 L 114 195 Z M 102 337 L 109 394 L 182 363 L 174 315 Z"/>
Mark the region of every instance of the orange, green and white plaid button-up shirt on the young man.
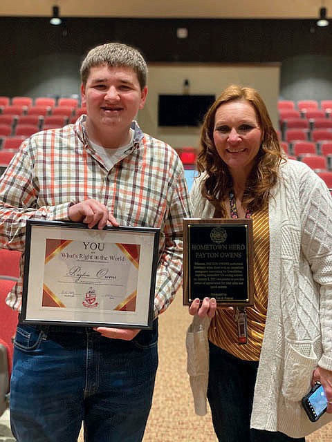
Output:
<path fill-rule="evenodd" d="M 89 146 L 83 115 L 74 125 L 23 142 L 0 179 L 0 247 L 24 251 L 26 220 L 68 219 L 68 206 L 93 198 L 120 226 L 159 227 L 155 316 L 181 285 L 183 218 L 190 217 L 183 166 L 164 142 L 133 122 L 133 146 L 111 170 Z M 21 276 L 23 275 L 23 256 Z M 20 309 L 22 278 L 7 297 Z"/>

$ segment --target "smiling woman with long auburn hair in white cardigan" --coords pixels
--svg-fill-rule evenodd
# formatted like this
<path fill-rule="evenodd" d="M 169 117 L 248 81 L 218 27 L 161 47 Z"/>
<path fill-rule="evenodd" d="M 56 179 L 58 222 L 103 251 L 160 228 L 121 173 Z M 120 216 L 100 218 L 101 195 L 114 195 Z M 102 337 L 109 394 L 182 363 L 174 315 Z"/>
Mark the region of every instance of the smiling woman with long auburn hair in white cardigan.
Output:
<path fill-rule="evenodd" d="M 190 306 L 196 318 L 212 318 L 214 430 L 227 442 L 304 441 L 332 419 L 331 195 L 308 166 L 284 157 L 251 88 L 230 86 L 216 99 L 197 166 L 194 217 L 252 218 L 254 234 L 255 305 L 245 312 L 246 344 L 238 343 L 237 309 L 216 308 L 213 298 Z M 301 398 L 316 381 L 331 403 L 311 423 Z"/>

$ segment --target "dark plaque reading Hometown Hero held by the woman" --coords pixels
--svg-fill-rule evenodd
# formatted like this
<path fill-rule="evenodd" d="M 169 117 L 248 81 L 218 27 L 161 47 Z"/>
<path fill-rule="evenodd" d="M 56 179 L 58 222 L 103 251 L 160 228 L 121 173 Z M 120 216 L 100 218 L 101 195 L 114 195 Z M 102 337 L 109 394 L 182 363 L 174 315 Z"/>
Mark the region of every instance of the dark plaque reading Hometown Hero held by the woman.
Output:
<path fill-rule="evenodd" d="M 217 305 L 252 305 L 252 220 L 188 218 L 183 224 L 183 304 L 207 296 Z"/>

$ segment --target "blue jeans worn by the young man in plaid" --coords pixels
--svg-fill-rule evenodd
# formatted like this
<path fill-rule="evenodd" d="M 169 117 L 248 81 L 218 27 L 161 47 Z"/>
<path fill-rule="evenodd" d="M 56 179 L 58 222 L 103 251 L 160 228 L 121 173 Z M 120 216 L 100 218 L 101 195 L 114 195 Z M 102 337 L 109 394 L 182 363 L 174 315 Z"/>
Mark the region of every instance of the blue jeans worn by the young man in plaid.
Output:
<path fill-rule="evenodd" d="M 89 327 L 19 325 L 10 385 L 18 442 L 139 442 L 158 365 L 158 322 L 132 341 Z"/>

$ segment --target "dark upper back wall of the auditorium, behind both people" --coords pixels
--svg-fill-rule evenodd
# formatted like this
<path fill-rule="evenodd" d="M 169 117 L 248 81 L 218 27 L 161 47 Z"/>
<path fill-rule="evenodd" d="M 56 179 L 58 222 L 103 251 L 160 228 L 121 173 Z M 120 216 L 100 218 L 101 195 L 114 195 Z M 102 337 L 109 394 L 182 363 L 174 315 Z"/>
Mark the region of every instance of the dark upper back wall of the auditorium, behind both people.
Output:
<path fill-rule="evenodd" d="M 176 37 L 181 27 L 187 28 L 186 39 Z M 317 28 L 314 19 L 65 17 L 62 26 L 51 26 L 45 17 L 0 17 L 0 95 L 79 93 L 82 57 L 89 48 L 112 40 L 137 46 L 151 66 L 233 66 L 234 73 L 246 65 L 281 66 L 280 97 L 332 99 L 332 26 Z M 200 88 L 205 90 L 209 81 L 201 75 Z M 221 84 L 214 84 L 214 90 Z M 275 88 L 271 97 L 274 93 Z"/>

